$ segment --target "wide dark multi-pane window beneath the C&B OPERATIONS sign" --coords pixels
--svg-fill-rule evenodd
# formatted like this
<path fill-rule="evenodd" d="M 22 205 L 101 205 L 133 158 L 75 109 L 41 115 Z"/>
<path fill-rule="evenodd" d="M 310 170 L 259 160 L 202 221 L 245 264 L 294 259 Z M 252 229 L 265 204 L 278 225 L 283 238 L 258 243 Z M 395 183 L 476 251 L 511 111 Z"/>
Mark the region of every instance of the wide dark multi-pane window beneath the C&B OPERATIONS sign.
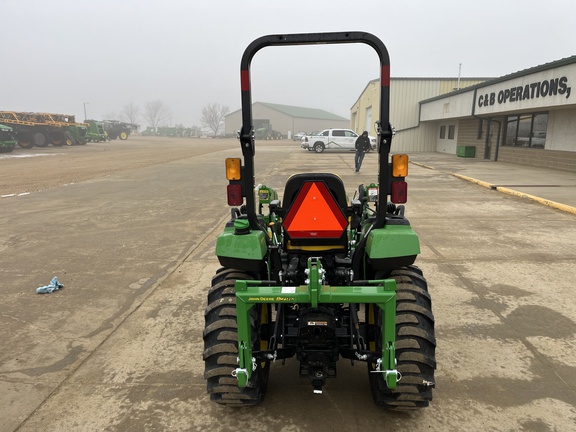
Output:
<path fill-rule="evenodd" d="M 548 113 L 521 114 L 506 117 L 505 146 L 544 148 Z"/>

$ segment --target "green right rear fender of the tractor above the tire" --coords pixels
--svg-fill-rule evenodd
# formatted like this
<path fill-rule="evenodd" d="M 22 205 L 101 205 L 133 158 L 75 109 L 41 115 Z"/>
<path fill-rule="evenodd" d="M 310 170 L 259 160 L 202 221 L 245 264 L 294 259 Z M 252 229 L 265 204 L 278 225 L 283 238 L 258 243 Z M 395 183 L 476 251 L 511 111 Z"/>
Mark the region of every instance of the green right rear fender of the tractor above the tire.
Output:
<path fill-rule="evenodd" d="M 411 265 L 420 253 L 418 235 L 410 225 L 386 224 L 368 234 L 366 255 L 376 270 L 393 270 Z"/>

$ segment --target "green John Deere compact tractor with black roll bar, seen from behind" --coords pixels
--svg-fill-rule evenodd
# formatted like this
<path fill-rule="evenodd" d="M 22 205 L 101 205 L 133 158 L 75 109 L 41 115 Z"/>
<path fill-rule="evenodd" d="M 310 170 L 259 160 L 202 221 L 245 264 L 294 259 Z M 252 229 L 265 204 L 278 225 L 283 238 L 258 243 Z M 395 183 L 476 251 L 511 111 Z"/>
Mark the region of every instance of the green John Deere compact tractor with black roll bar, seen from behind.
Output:
<path fill-rule="evenodd" d="M 378 182 L 352 200 L 332 173 L 298 173 L 282 200 L 256 187 L 250 63 L 267 46 L 364 43 L 381 63 Z M 242 158 L 226 160 L 231 220 L 216 242 L 222 266 L 205 311 L 204 377 L 210 399 L 255 405 L 271 364 L 295 357 L 322 394 L 339 359 L 365 363 L 375 403 L 426 407 L 435 386 L 436 339 L 427 282 L 414 265 L 418 236 L 404 216 L 406 155 L 390 155 L 390 63 L 368 33 L 269 35 L 241 60 Z M 388 199 L 390 198 L 390 199 Z"/>

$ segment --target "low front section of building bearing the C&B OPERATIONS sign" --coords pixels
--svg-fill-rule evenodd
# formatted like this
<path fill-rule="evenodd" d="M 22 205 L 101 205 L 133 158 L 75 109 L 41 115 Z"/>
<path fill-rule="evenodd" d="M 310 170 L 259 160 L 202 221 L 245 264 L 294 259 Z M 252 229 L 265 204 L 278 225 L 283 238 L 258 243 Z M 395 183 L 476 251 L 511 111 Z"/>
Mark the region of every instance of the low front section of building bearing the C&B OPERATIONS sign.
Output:
<path fill-rule="evenodd" d="M 435 151 L 576 172 L 574 83 L 576 56 L 423 100 L 420 122 Z"/>

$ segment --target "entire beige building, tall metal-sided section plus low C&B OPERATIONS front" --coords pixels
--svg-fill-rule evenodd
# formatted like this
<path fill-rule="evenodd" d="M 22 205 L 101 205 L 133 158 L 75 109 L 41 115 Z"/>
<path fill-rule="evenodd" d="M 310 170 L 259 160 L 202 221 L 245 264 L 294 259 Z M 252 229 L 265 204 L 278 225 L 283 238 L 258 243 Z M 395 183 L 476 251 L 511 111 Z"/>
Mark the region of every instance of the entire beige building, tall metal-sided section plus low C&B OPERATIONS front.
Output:
<path fill-rule="evenodd" d="M 576 172 L 576 56 L 499 78 L 392 78 L 393 152 L 462 157 Z M 351 108 L 351 127 L 378 118 L 378 80 Z M 459 87 L 459 88 L 458 88 Z"/>

